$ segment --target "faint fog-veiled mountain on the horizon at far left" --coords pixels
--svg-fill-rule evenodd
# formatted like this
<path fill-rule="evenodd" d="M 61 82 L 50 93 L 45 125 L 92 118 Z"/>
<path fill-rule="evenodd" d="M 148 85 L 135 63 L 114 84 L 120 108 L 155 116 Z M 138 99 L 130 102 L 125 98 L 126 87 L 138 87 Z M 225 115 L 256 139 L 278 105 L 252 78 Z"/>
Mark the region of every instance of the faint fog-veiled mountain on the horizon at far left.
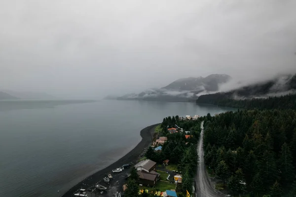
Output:
<path fill-rule="evenodd" d="M 12 90 L 1 90 L 6 92 L 14 97 L 25 100 L 54 100 L 57 99 L 54 96 L 51 96 L 44 92 L 30 92 L 30 91 L 12 91 Z"/>

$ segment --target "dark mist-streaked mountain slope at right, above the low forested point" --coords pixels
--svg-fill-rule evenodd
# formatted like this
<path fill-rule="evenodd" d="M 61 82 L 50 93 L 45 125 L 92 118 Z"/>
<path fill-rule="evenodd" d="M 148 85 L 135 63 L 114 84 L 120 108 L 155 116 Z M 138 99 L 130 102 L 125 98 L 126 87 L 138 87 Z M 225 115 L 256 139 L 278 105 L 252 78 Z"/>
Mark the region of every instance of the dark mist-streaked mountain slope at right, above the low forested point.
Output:
<path fill-rule="evenodd" d="M 296 93 L 296 74 L 282 75 L 274 79 L 246 85 L 228 92 L 201 95 L 196 102 L 218 104 L 226 99 L 251 99 Z"/>

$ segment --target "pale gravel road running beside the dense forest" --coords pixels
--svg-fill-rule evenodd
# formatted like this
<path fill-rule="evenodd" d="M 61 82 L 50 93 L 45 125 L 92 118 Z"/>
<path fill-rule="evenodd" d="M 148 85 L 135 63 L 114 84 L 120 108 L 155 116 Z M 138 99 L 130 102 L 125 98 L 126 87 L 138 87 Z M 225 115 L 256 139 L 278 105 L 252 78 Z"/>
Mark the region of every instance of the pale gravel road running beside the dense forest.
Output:
<path fill-rule="evenodd" d="M 204 151 L 203 151 L 203 121 L 201 122 L 201 133 L 199 137 L 199 142 L 197 145 L 197 153 L 199 155 L 199 164 L 196 169 L 196 197 L 224 197 L 218 194 L 211 188 L 208 174 L 206 172 L 206 167 L 204 163 Z"/>

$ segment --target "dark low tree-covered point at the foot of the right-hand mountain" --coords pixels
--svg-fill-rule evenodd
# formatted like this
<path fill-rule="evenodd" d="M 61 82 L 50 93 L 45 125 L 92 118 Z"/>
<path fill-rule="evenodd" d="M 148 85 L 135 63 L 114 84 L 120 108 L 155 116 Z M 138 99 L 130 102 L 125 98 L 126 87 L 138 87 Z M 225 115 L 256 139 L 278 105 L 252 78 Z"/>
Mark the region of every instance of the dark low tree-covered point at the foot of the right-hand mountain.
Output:
<path fill-rule="evenodd" d="M 296 94 L 279 97 L 253 98 L 244 100 L 234 100 L 223 93 L 201 95 L 196 103 L 213 104 L 225 107 L 244 109 L 293 109 L 296 110 Z"/>

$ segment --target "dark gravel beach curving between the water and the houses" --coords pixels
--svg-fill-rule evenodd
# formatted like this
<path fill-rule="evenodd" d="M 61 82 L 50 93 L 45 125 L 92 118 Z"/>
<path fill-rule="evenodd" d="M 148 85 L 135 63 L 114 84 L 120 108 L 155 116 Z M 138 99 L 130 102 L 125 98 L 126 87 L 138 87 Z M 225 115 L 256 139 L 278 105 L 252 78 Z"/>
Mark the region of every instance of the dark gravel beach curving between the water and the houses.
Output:
<path fill-rule="evenodd" d="M 152 143 L 154 129 L 157 125 L 158 124 L 153 124 L 153 125 L 150 125 L 144 129 L 142 129 L 140 132 L 142 140 L 133 150 L 131 150 L 125 156 L 118 159 L 117 161 L 115 161 L 114 163 L 109 165 L 108 167 L 94 173 L 93 175 L 90 175 L 89 177 L 87 177 L 86 179 L 81 181 L 80 183 L 76 184 L 68 192 L 66 192 L 62 197 L 73 197 L 73 194 L 77 190 L 79 190 L 81 188 L 86 188 L 85 185 L 94 185 L 98 181 L 102 180 L 104 178 L 105 174 L 108 174 L 109 172 L 111 172 L 112 169 L 118 168 L 126 163 L 131 163 L 131 162 L 135 163 L 138 160 L 139 156 L 143 153 L 145 148 L 147 148 L 148 145 Z M 113 176 L 113 178 L 115 178 L 115 177 Z"/>

